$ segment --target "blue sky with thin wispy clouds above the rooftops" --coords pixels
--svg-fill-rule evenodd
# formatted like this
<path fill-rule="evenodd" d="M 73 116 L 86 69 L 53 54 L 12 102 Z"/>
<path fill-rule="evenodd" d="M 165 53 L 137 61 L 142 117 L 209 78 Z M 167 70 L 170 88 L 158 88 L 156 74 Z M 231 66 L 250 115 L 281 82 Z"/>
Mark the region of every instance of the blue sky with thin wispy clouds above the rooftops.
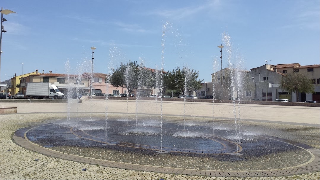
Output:
<path fill-rule="evenodd" d="M 143 61 L 164 70 L 187 66 L 211 81 L 232 62 L 244 69 L 271 64 L 320 64 L 319 0 L 2 0 L 1 81 L 14 73 L 109 73 L 120 62 Z M 163 36 L 164 25 L 166 25 Z M 232 51 L 232 53 L 231 53 Z M 230 53 L 230 56 L 228 56 Z M 240 58 L 239 58 L 240 57 Z M 67 60 L 70 69 L 66 69 Z M 212 62 L 219 66 L 213 67 Z"/>

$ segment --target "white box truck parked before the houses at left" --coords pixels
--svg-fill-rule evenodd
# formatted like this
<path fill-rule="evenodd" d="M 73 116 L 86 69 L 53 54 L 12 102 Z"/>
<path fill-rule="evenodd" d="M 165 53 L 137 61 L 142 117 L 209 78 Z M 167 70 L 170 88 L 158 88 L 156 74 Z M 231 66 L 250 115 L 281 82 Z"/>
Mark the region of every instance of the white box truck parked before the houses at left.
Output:
<path fill-rule="evenodd" d="M 54 98 L 62 99 L 64 94 L 52 83 L 48 82 L 27 82 L 27 98 Z"/>

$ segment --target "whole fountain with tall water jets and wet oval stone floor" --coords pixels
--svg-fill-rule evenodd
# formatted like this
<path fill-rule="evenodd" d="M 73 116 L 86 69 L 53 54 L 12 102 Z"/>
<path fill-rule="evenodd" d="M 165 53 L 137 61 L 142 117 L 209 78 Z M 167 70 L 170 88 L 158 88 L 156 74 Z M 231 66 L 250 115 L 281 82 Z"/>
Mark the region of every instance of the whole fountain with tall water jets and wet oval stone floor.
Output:
<path fill-rule="evenodd" d="M 164 26 L 160 71 L 161 95 L 165 29 Z M 231 47 L 225 43 L 227 48 Z M 231 59 L 230 55 L 230 65 Z M 130 74 L 128 68 L 126 74 L 127 77 Z M 236 87 L 239 92 L 241 86 L 232 84 L 233 90 Z M 187 85 L 185 89 L 186 93 Z M 149 101 L 139 99 L 139 91 L 134 102 L 135 113 L 129 113 L 128 98 L 126 112 L 108 112 L 108 106 L 115 101 L 105 99 L 105 112 L 102 112 L 104 116 L 99 112 L 93 113 L 92 110 L 88 112 L 90 123 L 86 115 L 78 114 L 78 106 L 84 105 L 76 103 L 76 112 L 68 112 L 67 123 L 60 121 L 22 128 L 15 136 L 25 138 L 46 150 L 53 150 L 55 156 L 60 158 L 70 156 L 77 158 L 79 162 L 101 166 L 154 172 L 172 171 L 171 173 L 188 175 L 200 173 L 201 176 L 212 176 L 211 173 L 215 172 L 218 172 L 216 176 L 221 176 L 223 172 L 229 176 L 246 176 L 245 173 L 248 176 L 262 176 L 262 172 L 276 173 L 279 169 L 304 166 L 315 159 L 314 153 L 309 150 L 292 145 L 284 139 L 264 135 L 261 133 L 262 129 L 252 132 L 250 124 L 241 125 L 241 132 L 240 104 L 238 102 L 236 113 L 235 100 L 232 123 L 229 119 L 215 119 L 214 107 L 219 105 L 215 105 L 214 101 L 212 117 L 199 117 L 186 115 L 186 104 L 191 104 L 186 99 L 183 99 L 183 115 L 166 114 L 166 105 L 161 98 L 160 123 L 157 113 L 139 112 L 140 104 L 146 104 L 152 109 Z M 158 102 L 155 103 L 157 112 Z M 92 102 L 90 105 L 93 105 Z M 92 121 L 94 123 L 91 123 Z M 294 157 L 294 160 L 290 157 Z M 208 174 L 201 174 L 202 172 Z M 291 170 L 286 172 L 295 173 Z"/>

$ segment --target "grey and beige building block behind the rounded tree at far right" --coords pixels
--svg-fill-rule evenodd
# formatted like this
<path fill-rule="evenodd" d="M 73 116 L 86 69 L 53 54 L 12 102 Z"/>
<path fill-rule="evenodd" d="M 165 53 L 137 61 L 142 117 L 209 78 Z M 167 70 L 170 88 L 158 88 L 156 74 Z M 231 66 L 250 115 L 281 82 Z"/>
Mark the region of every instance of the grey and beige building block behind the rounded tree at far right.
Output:
<path fill-rule="evenodd" d="M 320 65 L 301 66 L 299 63 L 291 63 L 263 65 L 250 70 L 249 75 L 252 77 L 252 84 L 254 86 L 252 98 L 265 101 L 267 99 L 266 97 L 268 97 L 268 101 L 275 99 L 289 99 L 292 102 L 297 102 L 296 92 L 287 92 L 279 87 L 283 76 L 290 72 L 296 72 L 306 74 L 315 85 L 314 94 L 299 92 L 299 102 L 304 102 L 306 100 L 320 100 Z"/>

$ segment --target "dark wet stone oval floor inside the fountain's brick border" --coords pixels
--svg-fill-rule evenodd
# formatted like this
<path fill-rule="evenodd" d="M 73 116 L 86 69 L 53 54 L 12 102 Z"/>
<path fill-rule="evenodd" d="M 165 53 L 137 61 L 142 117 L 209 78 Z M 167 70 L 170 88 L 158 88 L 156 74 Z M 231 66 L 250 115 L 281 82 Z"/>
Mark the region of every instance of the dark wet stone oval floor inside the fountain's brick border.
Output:
<path fill-rule="evenodd" d="M 164 123 L 163 148 L 174 149 L 169 153 L 156 153 L 161 149 L 161 131 L 154 120 L 140 124 L 137 131 L 135 122 L 108 121 L 107 141 L 105 121 L 79 121 L 77 127 L 71 127 L 67 131 L 63 123 L 47 124 L 30 129 L 27 138 L 38 145 L 84 157 L 197 170 L 282 169 L 311 159 L 308 151 L 297 146 L 251 134 L 241 135 L 243 144 L 238 150 L 243 155 L 233 156 L 228 152 L 237 150 L 231 143 L 235 133 L 215 129 L 213 135 L 210 126 Z M 105 142 L 111 145 L 106 146 Z M 201 151 L 215 153 L 196 153 Z"/>

